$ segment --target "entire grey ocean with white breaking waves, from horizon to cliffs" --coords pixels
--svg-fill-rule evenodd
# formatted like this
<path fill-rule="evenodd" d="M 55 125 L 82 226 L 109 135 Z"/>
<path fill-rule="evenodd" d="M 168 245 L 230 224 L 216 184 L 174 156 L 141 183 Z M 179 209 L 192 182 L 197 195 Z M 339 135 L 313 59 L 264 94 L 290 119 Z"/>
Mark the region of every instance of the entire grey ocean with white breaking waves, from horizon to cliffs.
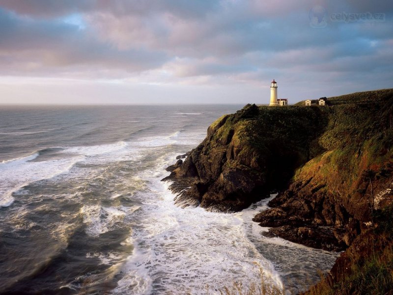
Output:
<path fill-rule="evenodd" d="M 237 213 L 174 206 L 165 168 L 238 105 L 0 106 L 1 294 L 295 294 L 337 253 Z M 272 196 L 273 197 L 273 196 Z"/>

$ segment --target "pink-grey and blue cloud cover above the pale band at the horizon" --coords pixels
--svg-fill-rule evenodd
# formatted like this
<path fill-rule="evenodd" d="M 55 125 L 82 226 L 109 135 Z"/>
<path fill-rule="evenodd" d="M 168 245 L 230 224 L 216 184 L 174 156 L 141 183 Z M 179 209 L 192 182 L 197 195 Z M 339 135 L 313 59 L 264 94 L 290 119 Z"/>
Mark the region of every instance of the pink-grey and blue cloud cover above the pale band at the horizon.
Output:
<path fill-rule="evenodd" d="M 325 28 L 310 26 L 316 4 Z M 316 91 L 343 78 L 357 90 L 372 73 L 389 87 L 392 11 L 384 0 L 0 0 L 0 75 L 258 89 L 274 76 Z M 385 21 L 330 19 L 341 12 Z"/>

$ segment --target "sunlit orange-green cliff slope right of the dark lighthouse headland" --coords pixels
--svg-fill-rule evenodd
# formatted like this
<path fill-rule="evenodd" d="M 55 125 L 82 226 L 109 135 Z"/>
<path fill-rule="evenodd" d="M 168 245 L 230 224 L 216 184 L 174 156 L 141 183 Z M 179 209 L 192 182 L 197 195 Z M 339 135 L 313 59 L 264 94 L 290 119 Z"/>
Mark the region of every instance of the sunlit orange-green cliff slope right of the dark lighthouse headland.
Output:
<path fill-rule="evenodd" d="M 274 208 L 254 221 L 279 227 L 271 232 L 295 242 L 328 226 L 337 242 L 311 246 L 350 245 L 373 211 L 392 201 L 392 99 L 392 89 L 330 98 L 328 124 L 318 137 L 324 151 L 297 169 L 287 190 L 270 202 Z"/>

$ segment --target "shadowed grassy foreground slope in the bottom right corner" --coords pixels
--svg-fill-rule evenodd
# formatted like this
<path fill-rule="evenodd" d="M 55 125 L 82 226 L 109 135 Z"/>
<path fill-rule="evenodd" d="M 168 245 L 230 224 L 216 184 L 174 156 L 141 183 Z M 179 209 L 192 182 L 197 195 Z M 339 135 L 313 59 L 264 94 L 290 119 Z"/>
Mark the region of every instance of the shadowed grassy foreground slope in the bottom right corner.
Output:
<path fill-rule="evenodd" d="M 393 294 L 393 206 L 374 212 L 372 226 L 357 236 L 331 271 L 304 295 Z"/>

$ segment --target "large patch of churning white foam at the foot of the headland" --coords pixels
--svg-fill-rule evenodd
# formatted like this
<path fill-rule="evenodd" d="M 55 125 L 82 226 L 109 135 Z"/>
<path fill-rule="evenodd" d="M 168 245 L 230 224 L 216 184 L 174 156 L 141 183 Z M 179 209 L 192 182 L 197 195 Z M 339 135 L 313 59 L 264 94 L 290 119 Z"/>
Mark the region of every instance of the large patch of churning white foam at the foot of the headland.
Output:
<path fill-rule="evenodd" d="M 135 249 L 122 268 L 115 294 L 210 294 L 234 281 L 258 281 L 259 269 L 268 282 L 282 287 L 280 276 L 247 237 L 236 214 L 181 209 L 173 204 L 167 184 L 157 171 L 146 171 L 150 192 L 141 196 L 146 207 L 137 213 L 143 228 L 134 230 Z M 149 203 L 146 201 L 149 200 Z M 146 218 L 146 221 L 143 219 Z"/>

